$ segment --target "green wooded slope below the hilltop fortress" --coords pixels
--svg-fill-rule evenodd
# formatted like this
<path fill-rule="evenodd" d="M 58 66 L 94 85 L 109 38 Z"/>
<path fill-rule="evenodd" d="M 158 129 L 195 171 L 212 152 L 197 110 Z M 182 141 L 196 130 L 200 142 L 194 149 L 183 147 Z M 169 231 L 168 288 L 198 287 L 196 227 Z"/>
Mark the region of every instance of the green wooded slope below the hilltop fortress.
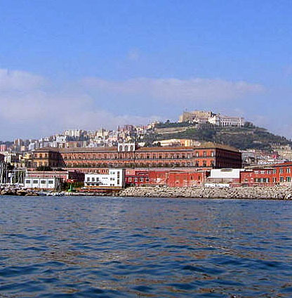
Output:
<path fill-rule="evenodd" d="M 255 127 L 251 122 L 246 122 L 244 127 L 215 127 L 211 124 L 190 127 L 190 124 L 185 124 L 185 131 L 161 134 L 161 129 L 164 127 L 171 128 L 171 123 L 168 122 L 165 126 L 161 124 L 159 129 L 155 130 L 150 136 L 147 136 L 145 141 L 152 143 L 152 141 L 169 138 L 188 138 L 197 141 L 211 141 L 231 145 L 240 150 L 272 150 L 273 144 L 292 145 L 292 141 L 289 141 L 283 136 L 274 135 L 262 127 Z M 173 124 L 173 127 L 178 128 L 176 124 Z M 183 126 L 180 124 L 179 129 L 182 128 Z"/>

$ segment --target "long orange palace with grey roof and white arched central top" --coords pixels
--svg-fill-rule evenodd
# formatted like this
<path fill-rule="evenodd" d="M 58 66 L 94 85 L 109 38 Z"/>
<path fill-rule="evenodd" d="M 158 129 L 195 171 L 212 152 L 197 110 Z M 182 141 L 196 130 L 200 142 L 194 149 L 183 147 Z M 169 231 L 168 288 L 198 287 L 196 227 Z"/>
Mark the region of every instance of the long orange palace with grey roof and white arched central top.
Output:
<path fill-rule="evenodd" d="M 206 143 L 198 147 L 142 147 L 123 143 L 117 147 L 41 148 L 34 151 L 32 167 L 68 169 L 163 168 L 198 169 L 240 168 L 241 153 L 226 145 Z"/>

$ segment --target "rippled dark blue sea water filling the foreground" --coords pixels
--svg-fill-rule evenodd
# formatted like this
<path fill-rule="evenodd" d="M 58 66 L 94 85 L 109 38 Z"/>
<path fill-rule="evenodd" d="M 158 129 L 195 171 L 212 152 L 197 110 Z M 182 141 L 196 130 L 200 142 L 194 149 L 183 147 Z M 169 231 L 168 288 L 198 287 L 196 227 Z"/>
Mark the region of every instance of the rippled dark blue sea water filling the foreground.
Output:
<path fill-rule="evenodd" d="M 0 297 L 292 297 L 292 202 L 0 197 Z"/>

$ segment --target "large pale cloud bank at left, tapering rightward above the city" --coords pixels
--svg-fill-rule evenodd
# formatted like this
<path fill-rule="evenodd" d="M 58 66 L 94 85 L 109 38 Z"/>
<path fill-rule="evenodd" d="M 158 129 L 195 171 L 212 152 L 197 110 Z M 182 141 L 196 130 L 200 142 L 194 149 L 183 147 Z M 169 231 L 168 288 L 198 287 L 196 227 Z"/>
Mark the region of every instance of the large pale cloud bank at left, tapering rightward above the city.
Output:
<path fill-rule="evenodd" d="M 63 86 L 55 92 L 49 84 L 43 88 L 45 81 L 28 72 L 0 71 L 0 139 L 44 136 L 71 128 L 116 129 L 118 125 L 159 119 L 96 108 L 98 99 L 82 89 L 72 87 L 74 91 L 68 91 Z"/>

